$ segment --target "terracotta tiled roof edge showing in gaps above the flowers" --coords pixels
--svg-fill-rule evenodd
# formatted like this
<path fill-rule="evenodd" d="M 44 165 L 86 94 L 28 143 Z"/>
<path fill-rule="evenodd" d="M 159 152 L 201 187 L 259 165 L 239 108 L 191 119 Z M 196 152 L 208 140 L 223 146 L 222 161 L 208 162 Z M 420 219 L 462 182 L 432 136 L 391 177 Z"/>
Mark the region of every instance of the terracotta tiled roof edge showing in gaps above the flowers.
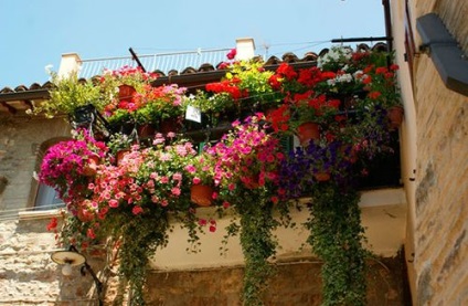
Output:
<path fill-rule="evenodd" d="M 358 45 L 357 50 L 386 50 L 385 43 L 377 43 L 370 48 L 366 44 Z M 295 66 L 311 66 L 317 63 L 317 57 L 320 54 L 328 52 L 328 49 L 321 50 L 318 54 L 315 52 L 307 52 L 302 57 L 299 57 L 294 53 L 285 53 L 280 59 L 277 56 L 270 56 L 265 61 L 265 66 L 275 66 L 281 63 L 292 64 Z M 196 88 L 202 87 L 204 84 L 210 82 L 219 81 L 223 75 L 224 71 L 220 70 L 221 63 L 213 65 L 211 63 L 201 64 L 199 67 L 188 66 L 182 71 L 168 70 L 164 73 L 160 70 L 153 72 L 160 74 L 160 77 L 156 80 L 153 85 L 162 85 L 170 83 L 178 83 L 183 86 L 190 86 Z M 49 89 L 53 86 L 51 82 L 44 84 L 33 83 L 30 86 L 19 85 L 14 89 L 10 87 L 3 87 L 0 89 L 0 114 L 15 114 L 18 112 L 24 112 L 32 107 L 32 102 L 41 102 L 47 99 Z"/>

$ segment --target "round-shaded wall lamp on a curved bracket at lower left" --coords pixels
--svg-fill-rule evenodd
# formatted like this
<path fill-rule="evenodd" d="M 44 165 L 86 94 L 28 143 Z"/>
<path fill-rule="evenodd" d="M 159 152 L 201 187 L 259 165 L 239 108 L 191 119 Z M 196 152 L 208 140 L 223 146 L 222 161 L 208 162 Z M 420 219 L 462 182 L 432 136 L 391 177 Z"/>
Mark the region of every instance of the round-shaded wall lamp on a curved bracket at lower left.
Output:
<path fill-rule="evenodd" d="M 74 245 L 71 245 L 67 251 L 57 251 L 51 255 L 51 258 L 54 263 L 63 265 L 62 274 L 65 276 L 72 275 L 73 266 L 82 266 L 79 273 L 85 276 L 86 271 L 91 274 L 96 284 L 97 291 L 97 299 L 99 302 L 99 306 L 103 306 L 102 293 L 103 293 L 103 283 L 97 278 L 96 273 L 94 273 L 93 268 L 86 262 L 86 257 L 76 250 Z"/>

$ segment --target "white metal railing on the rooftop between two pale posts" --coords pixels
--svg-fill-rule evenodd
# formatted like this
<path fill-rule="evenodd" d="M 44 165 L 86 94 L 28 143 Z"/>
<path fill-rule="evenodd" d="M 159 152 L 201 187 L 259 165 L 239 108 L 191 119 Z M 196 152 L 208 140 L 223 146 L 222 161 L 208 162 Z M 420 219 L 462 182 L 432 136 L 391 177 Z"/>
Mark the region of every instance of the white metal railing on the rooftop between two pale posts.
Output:
<path fill-rule="evenodd" d="M 157 53 L 138 55 L 142 66 L 147 72 L 161 71 L 166 75 L 169 71 L 176 70 L 182 72 L 187 67 L 198 70 L 203 64 L 216 66 L 226 60 L 226 53 L 230 49 L 209 49 L 173 53 Z M 103 57 L 81 61 L 79 77 L 93 77 L 100 75 L 105 68 L 117 70 L 125 65 L 136 67 L 137 61 L 129 56 Z"/>

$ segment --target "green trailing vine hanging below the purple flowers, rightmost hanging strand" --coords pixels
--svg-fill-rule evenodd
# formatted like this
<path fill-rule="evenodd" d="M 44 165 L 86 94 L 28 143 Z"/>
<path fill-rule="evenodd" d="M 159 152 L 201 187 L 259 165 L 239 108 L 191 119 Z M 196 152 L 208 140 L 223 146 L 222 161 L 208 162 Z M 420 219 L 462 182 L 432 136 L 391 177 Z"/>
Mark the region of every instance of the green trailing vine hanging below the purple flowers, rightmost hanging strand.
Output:
<path fill-rule="evenodd" d="M 333 182 L 319 183 L 309 205 L 308 243 L 323 260 L 323 305 L 365 305 L 364 229 L 360 194 Z"/>

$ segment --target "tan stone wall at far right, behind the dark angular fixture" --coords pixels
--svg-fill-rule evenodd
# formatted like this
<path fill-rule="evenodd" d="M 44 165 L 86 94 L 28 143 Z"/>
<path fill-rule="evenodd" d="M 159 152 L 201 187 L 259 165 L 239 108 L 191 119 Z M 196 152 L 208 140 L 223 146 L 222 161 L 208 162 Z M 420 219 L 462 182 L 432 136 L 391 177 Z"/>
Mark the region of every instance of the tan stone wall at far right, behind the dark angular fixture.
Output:
<path fill-rule="evenodd" d="M 467 51 L 468 1 L 416 1 L 435 11 Z M 418 305 L 468 305 L 468 97 L 448 91 L 432 59 L 416 59 Z"/>

